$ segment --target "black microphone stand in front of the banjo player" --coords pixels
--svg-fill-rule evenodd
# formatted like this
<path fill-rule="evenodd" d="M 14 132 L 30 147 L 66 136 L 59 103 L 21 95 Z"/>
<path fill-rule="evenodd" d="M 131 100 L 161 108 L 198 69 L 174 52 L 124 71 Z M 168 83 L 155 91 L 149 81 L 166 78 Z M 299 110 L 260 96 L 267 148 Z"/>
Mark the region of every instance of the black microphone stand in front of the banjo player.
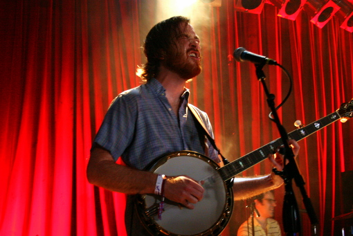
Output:
<path fill-rule="evenodd" d="M 274 103 L 275 96 L 269 93 L 269 90 L 266 87 L 266 83 L 264 82 L 264 80 L 266 79 L 266 76 L 264 75 L 264 71 L 262 71 L 262 68 L 264 67 L 265 64 L 266 62 L 263 62 L 262 64 L 255 64 L 256 75 L 258 80 L 262 82 L 262 85 L 264 87 L 264 91 L 267 97 L 267 103 L 272 111 L 273 121 L 277 125 L 278 131 L 280 132 L 280 137 L 284 145 L 284 163 L 286 163 L 286 159 L 289 160 L 289 163 L 287 165 L 284 165 L 284 168 L 282 171 L 277 171 L 277 170 L 274 171 L 275 174 L 279 174 L 282 177 L 282 179 L 284 179 L 285 192 L 284 192 L 284 203 L 283 203 L 283 209 L 282 209 L 284 232 L 286 232 L 287 235 L 293 235 L 293 236 L 298 235 L 298 233 L 300 233 L 300 215 L 298 210 L 298 204 L 296 202 L 296 196 L 294 195 L 293 188 L 292 188 L 292 179 L 294 179 L 296 182 L 296 185 L 298 186 L 302 194 L 305 208 L 307 209 L 309 219 L 311 221 L 311 225 L 314 228 L 314 235 L 316 235 L 317 233 L 316 227 L 318 224 L 318 219 L 315 215 L 314 208 L 311 205 L 311 201 L 307 196 L 307 192 L 304 188 L 305 181 L 302 179 L 302 176 L 300 175 L 300 172 L 298 170 L 298 166 L 296 165 L 293 150 L 289 147 L 289 144 L 288 144 L 289 138 L 288 138 L 287 131 L 281 125 L 280 119 L 278 118 L 278 114 L 275 109 L 275 103 Z"/>

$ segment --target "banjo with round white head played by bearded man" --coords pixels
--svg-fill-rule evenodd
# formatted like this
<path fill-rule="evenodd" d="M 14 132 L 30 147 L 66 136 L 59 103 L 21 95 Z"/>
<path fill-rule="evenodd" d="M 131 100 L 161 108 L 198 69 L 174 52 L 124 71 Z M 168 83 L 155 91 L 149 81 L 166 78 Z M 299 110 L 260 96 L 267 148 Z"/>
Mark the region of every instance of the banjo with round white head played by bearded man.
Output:
<path fill-rule="evenodd" d="M 302 140 L 338 119 L 345 122 L 352 117 L 353 100 L 343 103 L 334 113 L 291 131 L 288 136 L 296 141 Z M 150 172 L 168 176 L 188 175 L 196 181 L 204 181 L 203 199 L 194 205 L 193 210 L 168 199 L 165 199 L 163 209 L 159 209 L 161 196 L 138 194 L 135 201 L 138 217 L 152 235 L 219 235 L 233 211 L 233 190 L 228 185 L 229 180 L 264 161 L 282 144 L 278 138 L 223 167 L 203 154 L 191 151 L 172 152 L 159 158 L 150 165 Z M 163 211 L 161 219 L 159 210 Z"/>

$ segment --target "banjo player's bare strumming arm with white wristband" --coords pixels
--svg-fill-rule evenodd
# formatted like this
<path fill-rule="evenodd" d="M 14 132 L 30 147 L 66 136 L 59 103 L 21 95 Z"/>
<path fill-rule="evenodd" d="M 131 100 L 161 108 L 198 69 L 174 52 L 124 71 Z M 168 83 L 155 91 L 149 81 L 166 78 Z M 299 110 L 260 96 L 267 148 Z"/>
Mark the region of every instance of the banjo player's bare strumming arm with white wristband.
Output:
<path fill-rule="evenodd" d="M 114 192 L 125 194 L 154 194 L 157 174 L 118 165 L 111 154 L 94 147 L 87 166 L 89 183 Z M 194 208 L 192 203 L 201 201 L 203 188 L 188 176 L 167 176 L 164 194 L 167 199 Z"/>

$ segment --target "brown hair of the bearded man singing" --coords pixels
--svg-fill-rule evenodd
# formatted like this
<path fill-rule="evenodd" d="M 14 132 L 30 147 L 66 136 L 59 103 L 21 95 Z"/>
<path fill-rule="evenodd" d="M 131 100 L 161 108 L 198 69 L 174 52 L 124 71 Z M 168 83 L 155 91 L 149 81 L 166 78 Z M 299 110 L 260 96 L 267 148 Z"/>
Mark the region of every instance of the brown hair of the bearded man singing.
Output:
<path fill-rule="evenodd" d="M 171 48 L 176 47 L 175 39 L 180 33 L 179 26 L 189 23 L 190 19 L 178 16 L 165 19 L 151 28 L 143 45 L 147 63 L 138 68 L 138 75 L 143 80 L 150 80 L 158 75 L 161 58 Z"/>

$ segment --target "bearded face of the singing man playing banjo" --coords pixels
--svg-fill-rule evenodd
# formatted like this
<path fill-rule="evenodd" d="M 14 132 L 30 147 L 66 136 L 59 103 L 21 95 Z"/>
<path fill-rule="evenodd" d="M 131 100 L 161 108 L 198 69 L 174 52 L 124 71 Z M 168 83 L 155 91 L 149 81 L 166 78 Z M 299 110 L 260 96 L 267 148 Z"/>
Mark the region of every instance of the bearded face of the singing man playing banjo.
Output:
<path fill-rule="evenodd" d="M 201 73 L 200 40 L 190 24 L 181 24 L 180 33 L 175 38 L 175 47 L 166 53 L 163 64 L 189 80 Z"/>

